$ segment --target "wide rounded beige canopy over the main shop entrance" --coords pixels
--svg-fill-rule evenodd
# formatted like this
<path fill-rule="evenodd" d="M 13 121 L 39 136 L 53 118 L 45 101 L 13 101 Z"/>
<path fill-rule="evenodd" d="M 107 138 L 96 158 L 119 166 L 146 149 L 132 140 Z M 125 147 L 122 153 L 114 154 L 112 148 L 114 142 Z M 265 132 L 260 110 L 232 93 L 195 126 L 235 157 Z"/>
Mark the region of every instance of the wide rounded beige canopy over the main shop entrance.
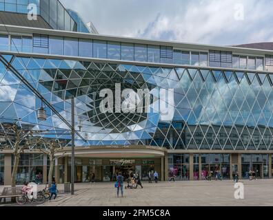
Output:
<path fill-rule="evenodd" d="M 75 147 L 75 157 L 91 158 L 154 158 L 164 157 L 166 148 L 153 146 L 88 146 Z M 57 156 L 71 156 L 71 148 L 64 148 Z"/>

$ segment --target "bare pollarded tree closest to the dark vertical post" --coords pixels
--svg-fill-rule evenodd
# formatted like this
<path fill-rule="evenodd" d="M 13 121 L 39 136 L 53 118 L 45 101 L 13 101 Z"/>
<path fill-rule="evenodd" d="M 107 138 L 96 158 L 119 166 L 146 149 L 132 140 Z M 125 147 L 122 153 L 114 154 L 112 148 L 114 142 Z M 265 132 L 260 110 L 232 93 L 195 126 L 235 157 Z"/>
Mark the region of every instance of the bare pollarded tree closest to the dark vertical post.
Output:
<path fill-rule="evenodd" d="M 37 145 L 39 145 L 39 147 L 37 147 L 39 151 L 45 153 L 50 158 L 50 169 L 48 172 L 48 186 L 51 186 L 52 184 L 52 172 L 54 168 L 55 159 L 58 159 L 59 157 L 62 157 L 65 154 L 64 152 L 61 156 L 56 156 L 57 152 L 63 151 L 63 146 L 62 146 L 63 143 L 66 143 L 66 142 L 59 142 L 59 140 L 49 140 L 44 138 L 40 138 L 39 141 L 37 142 Z"/>

